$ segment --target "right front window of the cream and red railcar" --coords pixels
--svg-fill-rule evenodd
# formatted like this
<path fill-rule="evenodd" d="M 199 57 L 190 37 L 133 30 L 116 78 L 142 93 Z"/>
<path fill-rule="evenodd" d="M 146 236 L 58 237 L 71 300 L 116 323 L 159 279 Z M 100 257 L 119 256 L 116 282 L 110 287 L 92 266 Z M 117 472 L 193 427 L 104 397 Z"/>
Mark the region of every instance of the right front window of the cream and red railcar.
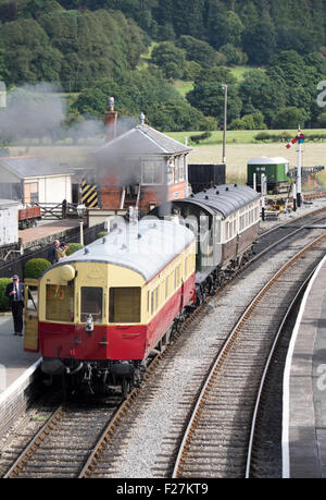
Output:
<path fill-rule="evenodd" d="M 140 322 L 140 288 L 110 289 L 110 322 Z"/>

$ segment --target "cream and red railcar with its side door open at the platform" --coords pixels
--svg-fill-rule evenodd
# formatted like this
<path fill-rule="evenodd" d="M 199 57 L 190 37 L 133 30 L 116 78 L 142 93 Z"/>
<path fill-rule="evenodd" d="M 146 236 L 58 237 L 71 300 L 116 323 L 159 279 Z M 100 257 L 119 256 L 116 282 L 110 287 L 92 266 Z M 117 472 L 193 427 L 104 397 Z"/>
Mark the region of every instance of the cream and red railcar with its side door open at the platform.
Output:
<path fill-rule="evenodd" d="M 195 253 L 192 232 L 171 221 L 115 229 L 26 281 L 25 350 L 40 350 L 46 374 L 125 392 L 196 300 Z"/>

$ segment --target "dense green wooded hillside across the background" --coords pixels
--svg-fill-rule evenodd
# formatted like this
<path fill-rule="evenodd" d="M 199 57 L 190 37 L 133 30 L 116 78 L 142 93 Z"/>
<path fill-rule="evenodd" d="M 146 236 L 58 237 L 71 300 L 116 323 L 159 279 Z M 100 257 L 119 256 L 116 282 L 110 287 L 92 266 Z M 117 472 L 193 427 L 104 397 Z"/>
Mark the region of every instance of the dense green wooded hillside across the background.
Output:
<path fill-rule="evenodd" d="M 55 84 L 72 122 L 113 95 L 159 130 L 215 130 L 226 84 L 234 130 L 326 127 L 325 26 L 323 0 L 0 0 L 0 80 Z"/>

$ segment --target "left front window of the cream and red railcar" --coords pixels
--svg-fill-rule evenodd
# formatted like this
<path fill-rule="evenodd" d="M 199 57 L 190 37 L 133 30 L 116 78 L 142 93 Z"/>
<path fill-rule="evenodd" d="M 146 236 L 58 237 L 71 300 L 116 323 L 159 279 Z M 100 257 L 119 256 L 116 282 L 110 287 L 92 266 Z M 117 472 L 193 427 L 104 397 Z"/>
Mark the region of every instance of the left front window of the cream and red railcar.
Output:
<path fill-rule="evenodd" d="M 47 284 L 47 313 L 50 321 L 74 320 L 74 286 Z"/>

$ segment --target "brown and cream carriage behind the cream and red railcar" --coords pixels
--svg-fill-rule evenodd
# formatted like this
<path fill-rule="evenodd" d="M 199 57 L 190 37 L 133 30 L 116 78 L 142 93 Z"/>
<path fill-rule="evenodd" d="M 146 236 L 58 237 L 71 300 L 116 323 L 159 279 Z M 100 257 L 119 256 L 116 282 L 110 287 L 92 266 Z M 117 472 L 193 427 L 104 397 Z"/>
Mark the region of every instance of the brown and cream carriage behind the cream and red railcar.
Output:
<path fill-rule="evenodd" d="M 198 234 L 196 288 L 198 301 L 203 301 L 252 252 L 259 233 L 260 195 L 248 186 L 224 184 L 155 207 L 150 214 L 179 219 Z"/>

